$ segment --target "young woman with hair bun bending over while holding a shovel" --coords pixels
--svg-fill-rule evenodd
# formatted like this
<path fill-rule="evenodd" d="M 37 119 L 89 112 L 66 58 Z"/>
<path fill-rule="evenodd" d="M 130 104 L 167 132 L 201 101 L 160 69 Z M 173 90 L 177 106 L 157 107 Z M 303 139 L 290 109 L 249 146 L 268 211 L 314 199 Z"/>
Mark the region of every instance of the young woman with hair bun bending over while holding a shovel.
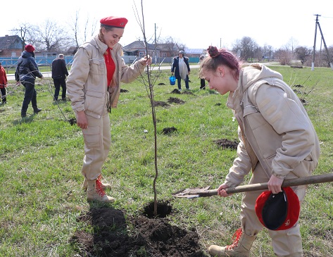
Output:
<path fill-rule="evenodd" d="M 225 189 L 237 187 L 251 173 L 249 184 L 268 183 L 272 194 L 282 192 L 282 182 L 307 177 L 318 165 L 320 144 L 313 124 L 299 97 L 281 74 L 253 63 L 241 68 L 230 51 L 208 48 L 209 56 L 199 75 L 210 89 L 229 93 L 227 107 L 239 123 L 237 158 L 218 187 L 218 195 L 226 197 Z M 291 187 L 300 204 L 306 185 Z M 263 192 L 244 193 L 241 204 L 241 227 L 229 246 L 212 245 L 211 256 L 249 256 L 251 246 L 263 225 L 255 211 L 256 199 Z M 287 230 L 268 230 L 276 256 L 303 256 L 299 222 Z"/>

